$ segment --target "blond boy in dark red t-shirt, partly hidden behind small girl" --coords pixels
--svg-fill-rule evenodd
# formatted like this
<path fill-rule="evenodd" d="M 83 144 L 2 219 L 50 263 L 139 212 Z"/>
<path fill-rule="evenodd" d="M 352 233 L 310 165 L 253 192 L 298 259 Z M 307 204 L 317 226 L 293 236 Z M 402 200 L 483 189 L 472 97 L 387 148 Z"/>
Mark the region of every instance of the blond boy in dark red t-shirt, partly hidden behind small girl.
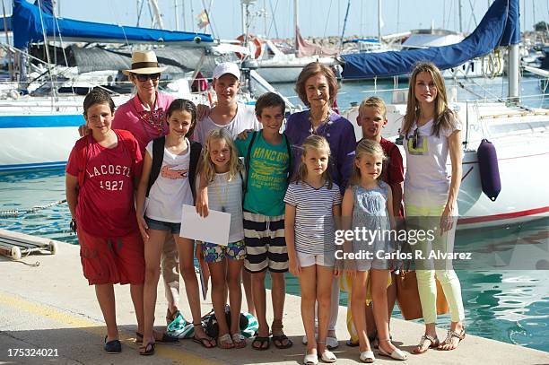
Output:
<path fill-rule="evenodd" d="M 388 158 L 387 166 L 383 169 L 382 178 L 383 181 L 391 187 L 391 193 L 393 194 L 393 212 L 395 212 L 396 215 L 396 229 L 398 229 L 400 224 L 402 224 L 402 218 L 404 217 L 404 208 L 402 205 L 404 166 L 402 154 L 400 154 L 396 144 L 381 136 L 381 130 L 387 125 L 387 108 L 385 107 L 385 102 L 376 96 L 362 100 L 361 106 L 359 107 L 359 115 L 356 117 L 356 123 L 362 127 L 362 138 L 367 138 L 381 144 L 381 148 L 383 148 L 383 152 L 385 152 L 385 155 Z M 396 274 L 391 272 L 391 276 L 392 282 L 387 288 L 389 321 L 396 301 Z M 352 322 L 347 320 L 347 323 Z M 368 337 L 371 340 L 375 340 L 377 331 L 371 303 L 369 306 L 366 306 L 366 327 L 368 329 Z M 358 336 L 352 333 L 355 331 L 350 329 L 349 332 L 351 332 L 351 339 L 347 344 L 358 346 Z"/>

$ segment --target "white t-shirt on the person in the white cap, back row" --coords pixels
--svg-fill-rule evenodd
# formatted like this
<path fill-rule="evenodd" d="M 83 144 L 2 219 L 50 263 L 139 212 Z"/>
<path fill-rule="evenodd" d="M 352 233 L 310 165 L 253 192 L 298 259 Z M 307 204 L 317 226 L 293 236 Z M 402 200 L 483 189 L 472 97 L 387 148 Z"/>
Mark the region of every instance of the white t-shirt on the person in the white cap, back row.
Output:
<path fill-rule="evenodd" d="M 196 142 L 204 145 L 210 131 L 220 128 L 227 129 L 234 139 L 240 132 L 245 131 L 246 129 L 253 129 L 257 131 L 261 129 L 261 126 L 257 121 L 254 107 L 251 105 L 238 103 L 237 114 L 232 118 L 231 122 L 225 126 L 221 126 L 216 124 L 212 118 L 205 117 L 196 123 L 195 135 L 193 138 Z"/>

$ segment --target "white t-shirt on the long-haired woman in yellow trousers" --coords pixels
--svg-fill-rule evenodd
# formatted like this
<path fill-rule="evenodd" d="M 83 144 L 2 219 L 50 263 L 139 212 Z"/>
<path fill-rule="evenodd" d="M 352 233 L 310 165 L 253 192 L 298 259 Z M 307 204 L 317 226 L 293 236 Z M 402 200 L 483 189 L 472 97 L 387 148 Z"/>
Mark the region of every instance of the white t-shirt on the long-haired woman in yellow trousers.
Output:
<path fill-rule="evenodd" d="M 419 206 L 440 206 L 448 200 L 451 170 L 448 138 L 461 130 L 459 119 L 454 119 L 453 128 L 440 128 L 440 136 L 432 135 L 433 120 L 419 127 L 414 148 L 414 132 L 417 124 L 405 135 L 406 152 L 405 203 Z"/>

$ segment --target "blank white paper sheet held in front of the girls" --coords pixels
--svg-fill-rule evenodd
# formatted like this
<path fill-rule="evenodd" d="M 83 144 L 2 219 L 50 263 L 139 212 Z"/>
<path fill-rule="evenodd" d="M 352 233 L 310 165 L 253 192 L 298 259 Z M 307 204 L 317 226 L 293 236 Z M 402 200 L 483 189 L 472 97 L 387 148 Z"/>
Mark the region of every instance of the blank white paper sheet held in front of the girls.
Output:
<path fill-rule="evenodd" d="M 196 213 L 194 206 L 183 205 L 180 237 L 227 246 L 230 228 L 230 213 L 210 211 L 204 218 Z"/>

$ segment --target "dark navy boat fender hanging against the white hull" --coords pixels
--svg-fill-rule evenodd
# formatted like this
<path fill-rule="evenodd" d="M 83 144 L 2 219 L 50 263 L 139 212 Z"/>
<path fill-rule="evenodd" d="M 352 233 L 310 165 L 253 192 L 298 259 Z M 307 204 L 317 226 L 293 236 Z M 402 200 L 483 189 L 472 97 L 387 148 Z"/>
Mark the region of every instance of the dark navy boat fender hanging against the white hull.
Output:
<path fill-rule="evenodd" d="M 500 195 L 501 178 L 498 166 L 498 154 L 492 142 L 483 139 L 478 146 L 478 150 L 476 150 L 476 157 L 480 169 L 483 193 L 493 202 Z"/>

